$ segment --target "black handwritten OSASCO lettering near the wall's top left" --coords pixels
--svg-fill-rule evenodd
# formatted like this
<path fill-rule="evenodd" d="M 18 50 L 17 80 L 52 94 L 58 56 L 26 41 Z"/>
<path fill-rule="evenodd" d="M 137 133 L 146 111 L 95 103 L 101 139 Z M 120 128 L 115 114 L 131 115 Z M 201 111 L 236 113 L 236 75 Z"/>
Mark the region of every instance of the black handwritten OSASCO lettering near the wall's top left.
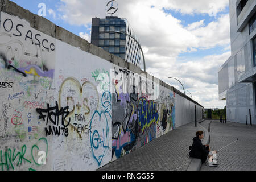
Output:
<path fill-rule="evenodd" d="M 15 28 L 14 28 L 15 27 Z M 24 26 L 22 24 L 17 24 L 16 26 L 14 26 L 13 20 L 11 19 L 6 19 L 3 22 L 3 28 L 5 29 L 6 32 L 11 32 L 12 30 L 16 31 L 13 33 L 14 36 L 18 36 L 21 37 L 22 36 L 22 28 Z M 36 46 L 43 46 L 43 48 L 47 49 L 47 51 L 51 50 L 51 51 L 55 51 L 55 44 L 53 43 L 49 43 L 49 41 L 47 39 L 43 39 L 42 41 L 39 40 L 39 37 L 41 37 L 40 34 L 35 34 L 33 36 L 33 32 L 31 30 L 28 30 L 24 40 L 25 41 L 31 41 L 32 44 L 34 44 L 34 39 L 37 41 L 37 43 L 35 43 Z"/>

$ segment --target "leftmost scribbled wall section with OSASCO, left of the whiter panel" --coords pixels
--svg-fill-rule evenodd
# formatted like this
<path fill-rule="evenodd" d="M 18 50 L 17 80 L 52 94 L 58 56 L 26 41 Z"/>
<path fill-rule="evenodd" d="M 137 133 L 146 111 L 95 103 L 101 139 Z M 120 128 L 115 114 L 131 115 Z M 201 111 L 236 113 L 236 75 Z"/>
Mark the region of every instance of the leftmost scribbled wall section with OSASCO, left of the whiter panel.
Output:
<path fill-rule="evenodd" d="M 55 39 L 18 17 L 1 13 L 1 170 L 50 169 L 51 138 L 36 109 L 53 96 Z"/>

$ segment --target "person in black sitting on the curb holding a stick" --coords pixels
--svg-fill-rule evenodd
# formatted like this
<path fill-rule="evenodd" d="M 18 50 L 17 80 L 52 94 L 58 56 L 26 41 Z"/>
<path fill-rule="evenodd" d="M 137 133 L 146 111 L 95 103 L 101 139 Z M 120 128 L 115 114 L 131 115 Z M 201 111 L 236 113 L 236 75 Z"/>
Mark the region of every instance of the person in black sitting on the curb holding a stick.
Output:
<path fill-rule="evenodd" d="M 217 152 L 210 151 L 209 144 L 203 145 L 201 139 L 204 138 L 203 131 L 197 131 L 196 137 L 193 138 L 193 144 L 189 147 L 191 150 L 189 156 L 192 158 L 201 159 L 202 163 L 205 163 L 207 157 L 209 157 L 209 166 L 217 166 Z M 213 161 L 212 161 L 213 160 Z"/>

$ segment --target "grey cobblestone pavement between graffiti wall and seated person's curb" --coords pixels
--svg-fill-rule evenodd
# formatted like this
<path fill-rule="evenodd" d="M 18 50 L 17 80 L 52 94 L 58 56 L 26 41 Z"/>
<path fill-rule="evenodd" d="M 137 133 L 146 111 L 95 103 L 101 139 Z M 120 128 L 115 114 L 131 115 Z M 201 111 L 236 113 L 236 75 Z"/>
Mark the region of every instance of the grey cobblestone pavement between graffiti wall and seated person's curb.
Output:
<path fill-rule="evenodd" d="M 198 130 L 202 128 L 194 122 L 178 127 L 98 170 L 185 171 L 191 163 L 188 147 Z"/>

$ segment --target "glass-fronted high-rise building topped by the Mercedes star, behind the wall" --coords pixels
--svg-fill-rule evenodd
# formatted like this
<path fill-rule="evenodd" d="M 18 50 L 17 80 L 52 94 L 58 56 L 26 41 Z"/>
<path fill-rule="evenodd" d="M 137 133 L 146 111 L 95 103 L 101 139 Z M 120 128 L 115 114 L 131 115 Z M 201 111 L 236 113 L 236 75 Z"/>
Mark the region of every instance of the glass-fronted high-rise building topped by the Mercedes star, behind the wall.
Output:
<path fill-rule="evenodd" d="M 141 64 L 139 45 L 133 38 L 125 34 L 132 36 L 138 42 L 127 19 L 116 16 L 92 19 L 92 44 L 139 67 Z"/>

